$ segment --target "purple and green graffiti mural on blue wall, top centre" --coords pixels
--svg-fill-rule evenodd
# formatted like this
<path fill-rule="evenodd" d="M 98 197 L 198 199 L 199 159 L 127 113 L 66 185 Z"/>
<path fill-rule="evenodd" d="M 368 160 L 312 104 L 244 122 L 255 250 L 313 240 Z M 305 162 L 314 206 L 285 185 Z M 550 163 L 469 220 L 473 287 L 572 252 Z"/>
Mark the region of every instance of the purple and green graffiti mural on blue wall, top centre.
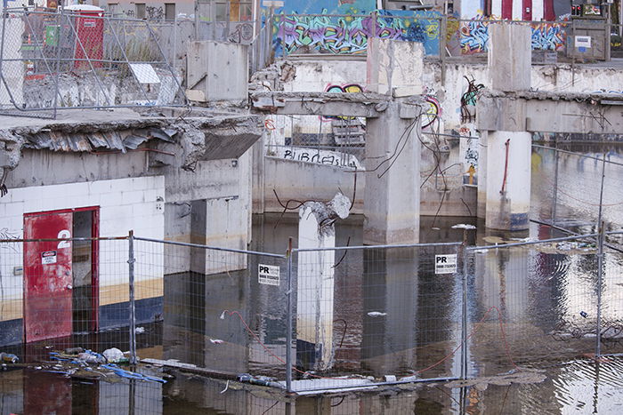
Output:
<path fill-rule="evenodd" d="M 274 47 L 283 53 L 365 53 L 368 38 L 421 42 L 428 55 L 439 54 L 441 14 L 438 12 L 378 11 L 368 15 L 286 15 L 276 17 Z"/>

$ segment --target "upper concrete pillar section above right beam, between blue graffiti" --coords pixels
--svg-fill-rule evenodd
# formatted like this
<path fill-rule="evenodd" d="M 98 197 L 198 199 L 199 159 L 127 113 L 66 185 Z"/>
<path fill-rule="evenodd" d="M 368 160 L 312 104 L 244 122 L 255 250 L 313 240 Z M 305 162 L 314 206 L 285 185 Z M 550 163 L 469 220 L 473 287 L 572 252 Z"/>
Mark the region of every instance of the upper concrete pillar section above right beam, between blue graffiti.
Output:
<path fill-rule="evenodd" d="M 489 74 L 495 91 L 528 91 L 532 31 L 528 25 L 494 23 L 489 27 Z"/>

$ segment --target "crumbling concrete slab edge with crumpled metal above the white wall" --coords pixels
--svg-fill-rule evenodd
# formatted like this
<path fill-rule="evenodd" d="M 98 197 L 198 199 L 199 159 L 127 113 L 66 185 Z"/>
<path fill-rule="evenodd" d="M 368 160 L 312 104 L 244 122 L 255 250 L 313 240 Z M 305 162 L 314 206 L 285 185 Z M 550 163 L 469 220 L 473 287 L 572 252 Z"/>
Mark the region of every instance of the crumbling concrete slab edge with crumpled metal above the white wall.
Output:
<path fill-rule="evenodd" d="M 214 160 L 222 158 L 237 158 L 258 140 L 263 132 L 263 117 L 258 115 L 218 115 L 196 118 L 181 117 L 145 117 L 125 118 L 118 120 L 93 122 L 50 121 L 31 126 L 15 126 L 0 129 L 0 168 L 13 170 L 20 163 L 21 152 L 24 148 L 36 150 L 53 150 L 68 152 L 93 152 L 95 150 L 120 150 L 125 152 L 123 140 L 117 146 L 110 145 L 107 140 L 88 140 L 85 135 L 115 132 L 127 138 L 129 136 L 142 137 L 135 147 L 145 141 L 157 139 L 165 144 L 174 143 L 182 148 L 178 154 L 182 166 L 196 161 Z M 123 132 L 123 134 L 121 134 Z M 53 136 L 77 134 L 82 138 L 80 145 L 62 143 L 53 145 Z M 80 139 L 79 138 L 79 139 Z M 171 140 L 167 140 L 171 139 Z M 78 139 L 78 140 L 79 140 Z M 240 145 L 232 149 L 231 145 L 237 139 L 244 139 Z M 44 141 L 47 141 L 46 143 Z M 214 142 L 218 141 L 217 144 Z M 39 142 L 40 145 L 37 145 Z M 73 148 L 72 148 L 73 147 Z M 128 146 L 129 149 L 135 149 Z M 225 151 L 230 148 L 229 151 Z M 158 150 L 156 148 L 152 148 Z M 227 154 L 224 154 L 224 153 Z M 218 153 L 218 154 L 217 154 Z"/>

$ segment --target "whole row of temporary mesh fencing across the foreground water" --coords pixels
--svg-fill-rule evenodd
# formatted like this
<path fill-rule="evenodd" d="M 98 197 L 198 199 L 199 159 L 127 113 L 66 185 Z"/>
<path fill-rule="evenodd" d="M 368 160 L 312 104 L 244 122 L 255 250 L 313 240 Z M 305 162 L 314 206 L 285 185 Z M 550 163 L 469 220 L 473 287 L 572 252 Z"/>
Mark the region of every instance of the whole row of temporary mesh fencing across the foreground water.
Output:
<path fill-rule="evenodd" d="M 620 355 L 622 235 L 284 255 L 132 234 L 4 239 L 0 344 L 25 362 L 117 347 L 299 393 Z"/>

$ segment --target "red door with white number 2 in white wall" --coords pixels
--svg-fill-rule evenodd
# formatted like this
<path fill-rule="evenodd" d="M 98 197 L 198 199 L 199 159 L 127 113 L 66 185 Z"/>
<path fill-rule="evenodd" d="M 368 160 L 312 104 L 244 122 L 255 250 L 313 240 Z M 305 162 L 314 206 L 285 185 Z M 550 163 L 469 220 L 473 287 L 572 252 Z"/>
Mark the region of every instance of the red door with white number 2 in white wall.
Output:
<path fill-rule="evenodd" d="M 71 237 L 72 213 L 24 215 L 24 239 Z M 69 336 L 71 241 L 24 243 L 24 334 L 26 342 Z"/>

